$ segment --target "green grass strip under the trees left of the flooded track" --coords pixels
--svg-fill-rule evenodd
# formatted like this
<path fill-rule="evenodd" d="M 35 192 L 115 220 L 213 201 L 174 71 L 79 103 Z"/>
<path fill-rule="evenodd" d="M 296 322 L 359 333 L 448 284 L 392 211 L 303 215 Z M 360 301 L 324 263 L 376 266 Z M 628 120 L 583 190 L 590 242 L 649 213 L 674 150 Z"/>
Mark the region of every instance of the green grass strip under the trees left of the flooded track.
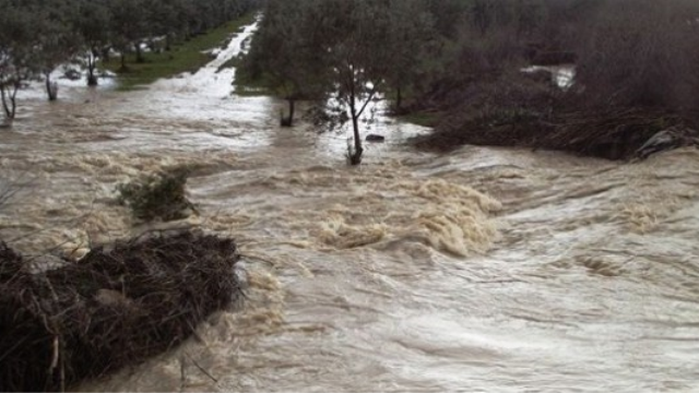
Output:
<path fill-rule="evenodd" d="M 145 52 L 145 62 L 135 62 L 135 55 L 127 56 L 128 71 L 120 72 L 120 59 L 109 59 L 102 66 L 116 72 L 119 80 L 119 90 L 138 90 L 143 85 L 155 82 L 162 78 L 171 78 L 183 72 L 196 72 L 211 61 L 208 50 L 225 46 L 232 36 L 239 34 L 244 26 L 254 21 L 256 13 L 250 12 L 238 20 L 228 22 L 206 34 L 193 37 L 188 41 L 173 46 L 169 51 L 159 53 Z"/>

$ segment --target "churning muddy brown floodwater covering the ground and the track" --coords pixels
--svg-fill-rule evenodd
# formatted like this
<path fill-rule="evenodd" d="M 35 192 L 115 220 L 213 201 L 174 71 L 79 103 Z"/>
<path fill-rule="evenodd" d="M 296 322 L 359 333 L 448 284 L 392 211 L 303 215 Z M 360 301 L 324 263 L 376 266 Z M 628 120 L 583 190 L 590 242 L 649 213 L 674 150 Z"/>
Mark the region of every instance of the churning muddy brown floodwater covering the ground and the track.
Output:
<path fill-rule="evenodd" d="M 180 348 L 74 392 L 697 392 L 699 152 L 641 163 L 465 146 L 377 117 L 365 163 L 344 134 L 280 129 L 281 103 L 216 73 L 130 93 L 21 97 L 0 139 L 0 235 L 80 255 L 138 233 L 114 189 L 196 168 L 201 215 L 234 236 L 242 309 Z"/>

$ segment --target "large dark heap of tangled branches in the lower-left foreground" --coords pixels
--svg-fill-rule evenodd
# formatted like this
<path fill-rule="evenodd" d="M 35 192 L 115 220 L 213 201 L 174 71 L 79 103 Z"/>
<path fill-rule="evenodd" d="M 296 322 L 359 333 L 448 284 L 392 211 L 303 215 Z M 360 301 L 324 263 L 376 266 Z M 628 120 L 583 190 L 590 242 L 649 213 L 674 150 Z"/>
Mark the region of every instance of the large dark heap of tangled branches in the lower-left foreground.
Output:
<path fill-rule="evenodd" d="M 241 296 L 234 240 L 152 234 L 44 272 L 0 242 L 0 391 L 62 392 L 173 348 Z"/>

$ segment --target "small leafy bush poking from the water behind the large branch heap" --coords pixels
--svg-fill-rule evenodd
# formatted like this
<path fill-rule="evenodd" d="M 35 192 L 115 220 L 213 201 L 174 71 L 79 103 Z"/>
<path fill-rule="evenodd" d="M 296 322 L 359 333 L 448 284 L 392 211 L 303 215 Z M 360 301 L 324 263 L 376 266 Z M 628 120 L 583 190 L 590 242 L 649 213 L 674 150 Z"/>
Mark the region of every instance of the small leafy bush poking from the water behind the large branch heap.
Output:
<path fill-rule="evenodd" d="M 185 218 L 194 210 L 186 194 L 188 177 L 189 170 L 182 167 L 144 175 L 117 186 L 118 201 L 142 221 Z"/>

